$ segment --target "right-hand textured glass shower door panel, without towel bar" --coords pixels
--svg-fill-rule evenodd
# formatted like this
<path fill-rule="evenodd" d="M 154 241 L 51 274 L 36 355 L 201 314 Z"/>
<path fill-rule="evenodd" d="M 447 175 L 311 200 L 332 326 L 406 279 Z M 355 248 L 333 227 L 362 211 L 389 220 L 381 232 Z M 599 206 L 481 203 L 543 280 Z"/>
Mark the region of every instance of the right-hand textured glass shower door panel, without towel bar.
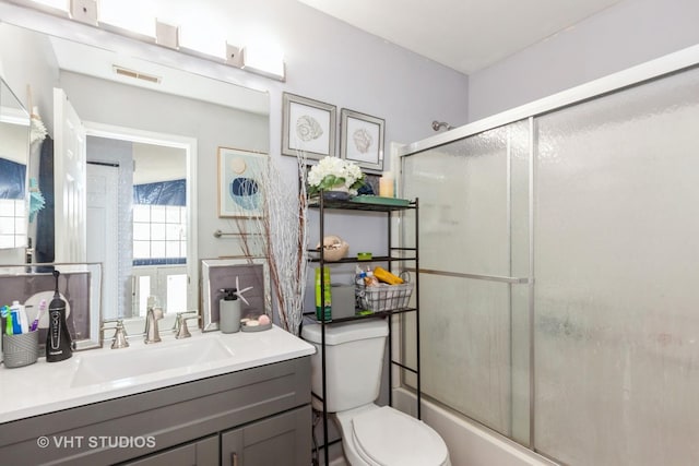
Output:
<path fill-rule="evenodd" d="M 699 464 L 699 71 L 543 116 L 535 446 Z"/>

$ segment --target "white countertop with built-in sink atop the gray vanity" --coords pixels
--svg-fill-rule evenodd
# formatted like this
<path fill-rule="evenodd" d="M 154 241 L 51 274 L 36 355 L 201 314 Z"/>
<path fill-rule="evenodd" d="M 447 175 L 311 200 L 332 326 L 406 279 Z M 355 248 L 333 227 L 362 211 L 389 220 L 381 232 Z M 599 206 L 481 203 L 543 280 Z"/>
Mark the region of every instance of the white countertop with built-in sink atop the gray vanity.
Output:
<path fill-rule="evenodd" d="M 23 368 L 7 369 L 0 366 L 0 423 L 281 362 L 316 351 L 310 344 L 277 326 L 263 332 L 233 334 L 192 332 L 190 338 L 183 339 L 175 339 L 174 336 L 164 334 L 165 332 L 161 334 L 163 342 L 151 345 L 143 344 L 142 337 L 134 337 L 129 340 L 128 348 L 111 349 L 110 340 L 106 340 L 102 349 L 76 351 L 72 358 L 60 362 L 46 362 L 42 357 L 36 363 Z M 174 354 L 178 350 L 181 354 L 182 345 L 188 344 L 198 349 L 211 344 L 218 351 L 218 356 L 213 360 L 206 360 L 204 354 L 200 358 L 203 360 L 189 365 L 174 365 L 168 359 L 166 366 L 176 367 L 153 371 L 149 369 L 149 373 L 111 381 L 91 383 L 91 379 L 87 379 L 88 382 L 76 382 L 76 374 L 79 371 L 81 375 L 84 374 L 85 367 L 116 367 L 121 361 L 139 365 L 139 359 L 144 360 L 149 351 L 156 350 L 158 355 L 167 355 L 166 348 L 170 348 Z M 229 353 L 222 357 L 221 351 Z"/>

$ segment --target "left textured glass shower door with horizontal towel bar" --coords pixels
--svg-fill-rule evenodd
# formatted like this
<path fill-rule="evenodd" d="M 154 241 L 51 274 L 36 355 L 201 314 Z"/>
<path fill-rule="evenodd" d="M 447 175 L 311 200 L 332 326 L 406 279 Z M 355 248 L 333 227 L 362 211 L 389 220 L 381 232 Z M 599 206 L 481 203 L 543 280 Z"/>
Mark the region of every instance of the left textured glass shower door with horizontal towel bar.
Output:
<path fill-rule="evenodd" d="M 517 122 L 403 160 L 404 196 L 420 203 L 423 393 L 523 443 L 528 130 Z"/>

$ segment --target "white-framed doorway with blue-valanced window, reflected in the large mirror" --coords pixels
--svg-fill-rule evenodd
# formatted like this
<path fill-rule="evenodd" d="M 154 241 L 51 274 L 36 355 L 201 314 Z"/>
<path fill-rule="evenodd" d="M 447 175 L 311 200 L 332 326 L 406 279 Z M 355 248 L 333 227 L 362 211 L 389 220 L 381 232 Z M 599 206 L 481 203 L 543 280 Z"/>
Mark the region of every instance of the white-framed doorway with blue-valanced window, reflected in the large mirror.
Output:
<path fill-rule="evenodd" d="M 189 260 L 197 195 L 188 166 L 196 142 L 85 124 L 86 260 L 105 264 L 106 319 L 144 316 L 150 296 L 166 313 L 194 309 L 188 263 L 197 262 Z"/>

